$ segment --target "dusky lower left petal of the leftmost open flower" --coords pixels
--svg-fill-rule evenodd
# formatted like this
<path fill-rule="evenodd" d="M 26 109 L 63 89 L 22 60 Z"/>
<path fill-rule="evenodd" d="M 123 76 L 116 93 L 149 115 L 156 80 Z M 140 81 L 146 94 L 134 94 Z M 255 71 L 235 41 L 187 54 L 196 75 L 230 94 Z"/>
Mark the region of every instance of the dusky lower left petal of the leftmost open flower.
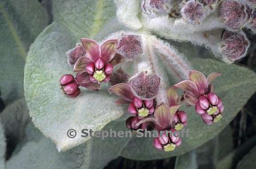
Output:
<path fill-rule="evenodd" d="M 100 84 L 93 83 L 90 78 L 90 74 L 84 72 L 84 73 L 77 73 L 76 74 L 76 80 L 80 83 L 81 86 L 92 89 L 92 90 L 100 90 Z"/>

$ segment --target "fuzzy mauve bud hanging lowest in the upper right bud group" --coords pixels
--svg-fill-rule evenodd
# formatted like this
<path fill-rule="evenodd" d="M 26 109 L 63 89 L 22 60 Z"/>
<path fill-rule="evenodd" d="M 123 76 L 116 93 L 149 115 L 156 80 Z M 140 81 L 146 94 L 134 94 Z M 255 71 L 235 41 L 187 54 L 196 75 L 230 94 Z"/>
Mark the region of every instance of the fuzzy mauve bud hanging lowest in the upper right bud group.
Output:
<path fill-rule="evenodd" d="M 249 46 L 250 42 L 244 32 L 225 31 L 220 50 L 230 61 L 236 61 L 246 55 Z"/>

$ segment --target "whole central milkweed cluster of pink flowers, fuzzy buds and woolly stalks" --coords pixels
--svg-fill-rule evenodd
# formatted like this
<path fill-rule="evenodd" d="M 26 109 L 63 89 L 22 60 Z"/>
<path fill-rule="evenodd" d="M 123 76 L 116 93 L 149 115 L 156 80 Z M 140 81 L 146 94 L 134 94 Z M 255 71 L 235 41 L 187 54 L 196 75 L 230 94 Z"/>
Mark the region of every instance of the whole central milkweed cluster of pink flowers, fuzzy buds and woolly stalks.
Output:
<path fill-rule="evenodd" d="M 160 4 L 147 5 L 161 7 Z M 116 106 L 127 105 L 127 113 L 131 116 L 124 125 L 128 129 L 166 133 L 152 140 L 157 150 L 172 151 L 181 145 L 181 138 L 171 133 L 188 124 L 188 114 L 180 107 L 182 104 L 195 106 L 196 113 L 208 125 L 220 121 L 224 106 L 211 84 L 220 73 L 211 73 L 206 78 L 203 73 L 191 70 L 188 61 L 152 35 L 116 33 L 110 37 L 101 45 L 92 39 L 81 38 L 81 44 L 68 51 L 68 63 L 76 77 L 66 74 L 60 78 L 61 89 L 66 95 L 77 97 L 81 92 L 79 87 L 98 91 L 101 83 L 110 84 L 109 92 L 119 96 Z M 176 65 L 172 70 L 180 79 L 178 84 L 167 89 L 168 80 L 156 59 L 158 53 L 169 67 Z M 128 61 L 134 62 L 132 74 L 122 69 L 121 63 Z M 179 89 L 184 91 L 182 95 Z"/>

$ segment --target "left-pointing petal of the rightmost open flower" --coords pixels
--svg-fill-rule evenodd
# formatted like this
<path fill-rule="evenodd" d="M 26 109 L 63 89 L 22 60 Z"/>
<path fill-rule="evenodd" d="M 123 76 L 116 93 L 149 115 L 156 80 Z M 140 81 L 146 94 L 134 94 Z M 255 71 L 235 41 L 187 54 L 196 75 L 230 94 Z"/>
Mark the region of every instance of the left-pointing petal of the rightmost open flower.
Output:
<path fill-rule="evenodd" d="M 180 88 L 185 92 L 193 93 L 195 96 L 199 96 L 198 88 L 193 81 L 185 80 L 174 85 L 176 88 Z"/>

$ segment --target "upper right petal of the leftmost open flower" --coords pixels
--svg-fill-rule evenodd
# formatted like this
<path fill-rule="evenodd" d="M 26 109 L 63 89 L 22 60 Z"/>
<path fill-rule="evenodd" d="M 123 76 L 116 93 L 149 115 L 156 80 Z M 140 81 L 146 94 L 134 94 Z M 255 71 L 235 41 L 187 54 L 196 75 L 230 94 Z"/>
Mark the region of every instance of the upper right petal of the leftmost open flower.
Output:
<path fill-rule="evenodd" d="M 101 58 L 107 63 L 114 58 L 116 55 L 116 39 L 111 39 L 104 42 L 100 49 L 101 49 Z"/>

